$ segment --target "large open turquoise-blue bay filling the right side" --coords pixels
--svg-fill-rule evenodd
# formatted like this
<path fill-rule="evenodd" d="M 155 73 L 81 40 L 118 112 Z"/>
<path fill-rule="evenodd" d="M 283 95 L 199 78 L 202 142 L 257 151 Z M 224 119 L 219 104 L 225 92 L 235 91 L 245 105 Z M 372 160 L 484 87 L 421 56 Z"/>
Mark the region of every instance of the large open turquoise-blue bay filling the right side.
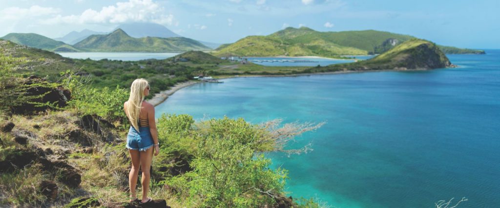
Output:
<path fill-rule="evenodd" d="M 500 207 L 500 50 L 448 55 L 459 68 L 202 83 L 156 107 L 196 119 L 327 123 L 297 138 L 314 151 L 268 154 L 290 196 L 340 208 Z"/>

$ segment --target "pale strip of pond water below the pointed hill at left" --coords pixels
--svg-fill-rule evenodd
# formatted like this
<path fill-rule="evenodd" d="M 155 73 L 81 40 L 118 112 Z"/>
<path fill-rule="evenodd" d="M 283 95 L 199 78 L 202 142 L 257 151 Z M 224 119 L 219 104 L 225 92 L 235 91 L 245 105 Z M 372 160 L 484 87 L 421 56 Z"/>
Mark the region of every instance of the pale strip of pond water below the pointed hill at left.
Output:
<path fill-rule="evenodd" d="M 80 59 L 90 58 L 92 60 L 100 60 L 107 58 L 109 60 L 138 61 L 150 58 L 165 59 L 175 56 L 179 53 L 60 52 L 58 54 L 68 58 L 80 58 Z"/>

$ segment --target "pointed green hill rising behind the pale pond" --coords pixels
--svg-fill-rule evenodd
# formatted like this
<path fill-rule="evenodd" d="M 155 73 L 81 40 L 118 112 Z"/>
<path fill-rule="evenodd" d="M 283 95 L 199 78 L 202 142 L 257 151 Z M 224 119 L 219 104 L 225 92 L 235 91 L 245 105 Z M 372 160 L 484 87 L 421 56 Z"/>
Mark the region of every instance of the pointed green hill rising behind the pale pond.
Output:
<path fill-rule="evenodd" d="M 105 35 L 90 35 L 74 44 L 75 47 L 101 52 L 183 52 L 210 50 L 196 40 L 185 37 L 133 38 L 121 29 Z"/>

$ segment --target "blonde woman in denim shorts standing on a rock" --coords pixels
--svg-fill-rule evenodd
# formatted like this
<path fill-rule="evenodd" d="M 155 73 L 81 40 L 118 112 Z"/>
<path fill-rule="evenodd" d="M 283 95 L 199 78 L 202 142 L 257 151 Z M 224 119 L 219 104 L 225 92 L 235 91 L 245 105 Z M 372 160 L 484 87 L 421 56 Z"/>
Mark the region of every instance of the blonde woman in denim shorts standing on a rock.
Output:
<path fill-rule="evenodd" d="M 137 175 L 139 166 L 142 170 L 142 199 L 141 204 L 148 203 L 151 198 L 147 197 L 149 191 L 149 180 L 151 178 L 149 169 L 154 156 L 159 153 L 158 131 L 154 123 L 154 106 L 144 101 L 149 95 L 149 84 L 145 79 L 136 79 L 130 87 L 130 97 L 123 103 L 123 110 L 130 121 L 130 130 L 126 138 L 126 148 L 130 153 L 132 168 L 128 175 L 130 186 L 130 202 L 138 201 L 135 196 Z M 154 147 L 154 148 L 153 148 Z"/>

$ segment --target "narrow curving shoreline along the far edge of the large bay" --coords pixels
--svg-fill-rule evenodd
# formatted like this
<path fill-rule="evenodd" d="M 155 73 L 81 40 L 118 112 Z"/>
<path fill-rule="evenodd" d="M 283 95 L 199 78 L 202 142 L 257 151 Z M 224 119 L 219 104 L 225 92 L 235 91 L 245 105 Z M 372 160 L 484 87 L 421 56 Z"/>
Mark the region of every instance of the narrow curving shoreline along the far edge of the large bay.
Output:
<path fill-rule="evenodd" d="M 310 75 L 325 75 L 325 74 L 350 74 L 350 73 L 364 73 L 364 72 L 387 72 L 387 71 L 426 71 L 433 69 L 384 69 L 384 70 L 365 70 L 365 71 L 331 71 L 331 72 L 320 72 L 320 73 L 304 73 L 304 74 L 286 74 L 286 75 L 229 75 L 227 77 L 221 77 L 217 79 L 230 79 L 239 77 L 298 77 L 298 76 L 310 76 Z M 157 106 L 163 103 L 170 95 L 175 93 L 184 87 L 191 86 L 196 83 L 202 83 L 200 81 L 187 81 L 175 84 L 169 90 L 163 90 L 159 93 L 154 94 L 154 96 L 146 100 L 153 106 Z"/>

